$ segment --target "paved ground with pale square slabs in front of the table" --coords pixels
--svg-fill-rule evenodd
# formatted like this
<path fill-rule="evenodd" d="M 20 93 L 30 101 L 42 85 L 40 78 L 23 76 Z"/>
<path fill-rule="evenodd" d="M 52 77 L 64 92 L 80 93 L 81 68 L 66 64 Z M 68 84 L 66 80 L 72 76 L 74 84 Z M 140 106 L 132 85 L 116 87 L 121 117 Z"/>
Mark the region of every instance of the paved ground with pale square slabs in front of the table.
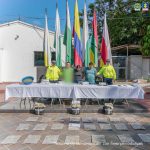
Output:
<path fill-rule="evenodd" d="M 0 114 L 0 150 L 149 150 L 150 114 Z"/>

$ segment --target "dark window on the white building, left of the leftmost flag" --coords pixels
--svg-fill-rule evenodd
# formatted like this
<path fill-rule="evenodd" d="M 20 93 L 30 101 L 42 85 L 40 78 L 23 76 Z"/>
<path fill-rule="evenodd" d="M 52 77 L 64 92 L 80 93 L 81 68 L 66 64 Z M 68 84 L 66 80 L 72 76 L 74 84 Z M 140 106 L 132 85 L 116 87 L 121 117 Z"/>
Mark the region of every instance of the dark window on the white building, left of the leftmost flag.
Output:
<path fill-rule="evenodd" d="M 44 66 L 44 52 L 34 52 L 34 66 Z"/>

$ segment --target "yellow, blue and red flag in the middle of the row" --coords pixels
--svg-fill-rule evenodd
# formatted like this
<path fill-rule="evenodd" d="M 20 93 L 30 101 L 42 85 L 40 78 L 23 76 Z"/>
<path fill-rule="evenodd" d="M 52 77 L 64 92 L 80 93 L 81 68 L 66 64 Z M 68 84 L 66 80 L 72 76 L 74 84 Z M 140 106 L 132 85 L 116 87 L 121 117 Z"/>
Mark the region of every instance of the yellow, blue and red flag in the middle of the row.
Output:
<path fill-rule="evenodd" d="M 79 21 L 77 0 L 75 2 L 73 36 L 74 36 L 74 65 L 82 66 L 82 46 L 81 46 L 81 37 L 80 37 L 80 21 Z"/>

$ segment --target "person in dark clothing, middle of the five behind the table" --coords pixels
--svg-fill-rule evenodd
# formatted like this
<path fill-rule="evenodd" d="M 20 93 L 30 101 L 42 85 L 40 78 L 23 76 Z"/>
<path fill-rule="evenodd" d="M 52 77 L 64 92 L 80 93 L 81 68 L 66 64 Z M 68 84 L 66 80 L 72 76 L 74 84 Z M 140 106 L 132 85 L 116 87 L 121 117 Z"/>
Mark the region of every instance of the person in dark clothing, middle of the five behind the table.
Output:
<path fill-rule="evenodd" d="M 80 65 L 77 65 L 74 70 L 74 82 L 79 83 L 80 81 L 82 81 L 82 77 L 83 77 L 82 68 L 80 67 Z"/>

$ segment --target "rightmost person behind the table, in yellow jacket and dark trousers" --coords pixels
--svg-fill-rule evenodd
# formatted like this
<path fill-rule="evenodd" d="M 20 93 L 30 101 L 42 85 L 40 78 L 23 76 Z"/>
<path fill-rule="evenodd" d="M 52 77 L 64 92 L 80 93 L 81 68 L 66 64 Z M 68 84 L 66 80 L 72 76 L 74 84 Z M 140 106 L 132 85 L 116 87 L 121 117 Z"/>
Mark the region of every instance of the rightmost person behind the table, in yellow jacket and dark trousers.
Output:
<path fill-rule="evenodd" d="M 104 82 L 106 82 L 107 85 L 113 84 L 113 80 L 116 80 L 116 72 L 114 67 L 110 64 L 109 59 L 106 60 L 106 65 L 100 69 L 97 75 L 103 75 Z"/>

